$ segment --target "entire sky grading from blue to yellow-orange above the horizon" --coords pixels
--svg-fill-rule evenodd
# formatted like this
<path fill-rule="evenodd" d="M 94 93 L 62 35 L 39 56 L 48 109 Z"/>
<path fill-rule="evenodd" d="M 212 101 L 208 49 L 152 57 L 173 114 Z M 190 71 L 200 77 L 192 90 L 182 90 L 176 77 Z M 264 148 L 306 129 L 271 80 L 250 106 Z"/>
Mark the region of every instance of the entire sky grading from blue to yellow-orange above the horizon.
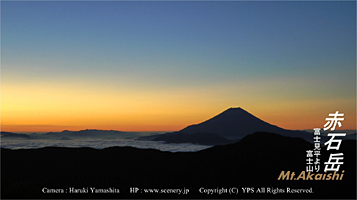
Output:
<path fill-rule="evenodd" d="M 356 129 L 354 1 L 2 1 L 1 50 L 3 131 Z"/>

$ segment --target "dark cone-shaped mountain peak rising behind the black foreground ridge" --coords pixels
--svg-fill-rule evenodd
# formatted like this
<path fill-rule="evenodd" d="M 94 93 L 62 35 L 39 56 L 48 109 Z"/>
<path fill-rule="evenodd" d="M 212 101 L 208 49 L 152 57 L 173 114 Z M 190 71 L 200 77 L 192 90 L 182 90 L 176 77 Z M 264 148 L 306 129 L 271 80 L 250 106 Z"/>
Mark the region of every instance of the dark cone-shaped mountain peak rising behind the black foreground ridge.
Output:
<path fill-rule="evenodd" d="M 310 142 L 313 140 L 311 133 L 280 128 L 255 117 L 242 108 L 229 108 L 205 122 L 190 125 L 177 132 L 142 137 L 141 139 L 167 143 L 182 143 L 184 141 L 203 145 L 208 143 L 221 145 L 236 142 L 255 132 L 277 133 L 288 137 L 303 138 Z M 322 137 L 322 141 L 325 140 L 327 138 Z"/>

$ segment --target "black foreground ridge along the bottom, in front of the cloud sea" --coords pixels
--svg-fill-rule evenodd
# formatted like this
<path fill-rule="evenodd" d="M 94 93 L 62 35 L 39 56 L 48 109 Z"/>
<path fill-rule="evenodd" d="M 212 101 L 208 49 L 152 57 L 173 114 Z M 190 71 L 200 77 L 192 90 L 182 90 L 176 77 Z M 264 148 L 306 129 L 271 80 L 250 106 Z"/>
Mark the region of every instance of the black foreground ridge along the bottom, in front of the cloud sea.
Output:
<path fill-rule="evenodd" d="M 306 169 L 306 150 L 313 145 L 299 138 L 258 132 L 240 142 L 194 153 L 111 147 L 46 147 L 31 150 L 1 149 L 1 198 L 356 198 L 356 144 L 343 141 L 342 180 L 277 180 L 281 171 Z M 330 152 L 321 152 L 321 162 Z M 120 193 L 44 194 L 43 188 L 118 188 Z M 130 188 L 181 188 L 187 195 L 131 194 Z M 203 188 L 240 189 L 239 194 L 202 194 Z M 242 187 L 313 189 L 312 194 L 243 193 Z"/>

